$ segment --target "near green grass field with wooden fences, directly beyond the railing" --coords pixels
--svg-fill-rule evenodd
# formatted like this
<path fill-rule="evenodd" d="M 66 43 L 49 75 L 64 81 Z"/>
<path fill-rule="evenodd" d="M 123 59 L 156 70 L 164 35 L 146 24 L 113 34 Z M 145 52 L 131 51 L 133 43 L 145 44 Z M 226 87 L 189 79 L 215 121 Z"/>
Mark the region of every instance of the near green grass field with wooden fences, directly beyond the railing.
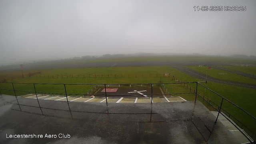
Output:
<path fill-rule="evenodd" d="M 212 69 L 211 69 L 212 70 Z M 184 74 L 170 66 L 145 66 L 145 67 L 111 67 L 111 68 L 70 68 L 70 69 L 56 69 L 56 70 L 41 70 L 41 71 L 24 71 L 24 73 L 29 72 L 41 72 L 41 75 L 68 75 L 68 74 L 164 74 L 170 73 L 175 75 L 177 78 L 182 80 L 183 82 L 193 82 L 193 81 L 201 81 L 196 78 L 192 78 L 187 74 Z M 18 72 L 10 73 L 12 76 L 20 75 Z M 86 78 L 15 78 L 9 79 L 8 82 L 28 82 L 28 83 L 93 83 L 93 84 L 102 84 L 102 83 L 158 83 L 160 80 L 159 77 L 86 77 Z M 175 82 L 170 77 L 162 77 L 162 82 Z M 193 88 L 196 88 L 196 84 L 189 84 Z M 204 84 L 205 85 L 205 84 Z M 248 111 L 252 115 L 256 116 L 256 111 L 254 110 L 255 104 L 253 102 L 256 101 L 255 93 L 256 90 L 249 88 L 242 88 L 238 86 L 230 86 L 226 84 L 216 84 L 214 82 L 208 82 L 207 87 L 214 90 L 218 94 L 226 97 L 228 100 L 231 100 L 244 110 Z M 86 94 L 93 86 L 66 86 L 67 93 L 73 94 Z M 4 89 L 12 89 L 11 84 L 0 84 L 1 88 Z M 34 87 L 32 84 L 14 84 L 16 90 L 26 90 L 26 91 L 34 91 Z M 189 92 L 186 87 L 181 86 L 180 84 L 168 84 L 166 85 L 167 89 L 171 93 L 183 93 Z M 52 93 L 64 93 L 63 85 L 36 85 L 36 90 L 38 92 L 52 92 Z M 212 102 L 220 105 L 221 98 L 216 94 L 206 90 L 202 86 L 198 87 L 198 92 L 204 94 L 208 98 L 211 99 Z M 1 90 L 2 94 L 14 95 L 12 91 Z M 17 92 L 17 95 L 28 94 L 26 92 Z M 193 94 L 182 94 L 182 98 L 186 100 L 194 100 Z M 208 106 L 205 102 L 204 104 Z M 252 126 L 254 121 L 248 118 L 248 116 L 244 115 L 238 108 L 224 102 L 223 108 L 228 111 L 230 114 L 238 118 L 247 126 L 252 127 L 256 131 L 256 126 Z M 210 109 L 210 108 L 209 108 Z M 212 109 L 210 109 L 212 110 Z"/>

